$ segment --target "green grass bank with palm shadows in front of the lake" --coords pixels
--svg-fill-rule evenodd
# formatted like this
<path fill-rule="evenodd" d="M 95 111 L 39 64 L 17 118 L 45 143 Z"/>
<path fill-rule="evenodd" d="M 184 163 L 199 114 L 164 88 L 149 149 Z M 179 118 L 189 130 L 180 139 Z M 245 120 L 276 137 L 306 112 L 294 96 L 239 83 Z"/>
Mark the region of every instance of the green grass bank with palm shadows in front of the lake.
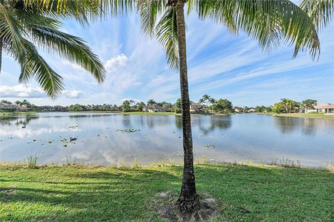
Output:
<path fill-rule="evenodd" d="M 180 191 L 182 167 L 0 168 L 0 221 L 164 221 L 161 191 Z M 196 166 L 211 221 L 334 221 L 334 173 L 320 169 Z"/>

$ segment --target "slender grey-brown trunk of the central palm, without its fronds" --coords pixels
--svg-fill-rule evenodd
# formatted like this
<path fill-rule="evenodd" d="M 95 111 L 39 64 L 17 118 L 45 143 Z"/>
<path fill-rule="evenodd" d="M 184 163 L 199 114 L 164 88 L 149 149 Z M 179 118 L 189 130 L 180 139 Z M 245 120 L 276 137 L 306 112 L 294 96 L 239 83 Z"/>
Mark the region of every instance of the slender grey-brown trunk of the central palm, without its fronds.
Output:
<path fill-rule="evenodd" d="M 184 169 L 182 189 L 178 199 L 180 210 L 193 210 L 198 203 L 196 194 L 195 172 L 193 171 L 193 139 L 191 137 L 191 117 L 189 104 L 188 74 L 186 67 L 186 27 L 184 22 L 184 0 L 178 0 L 176 4 L 177 35 L 180 60 L 180 88 L 182 100 L 182 130 Z"/>

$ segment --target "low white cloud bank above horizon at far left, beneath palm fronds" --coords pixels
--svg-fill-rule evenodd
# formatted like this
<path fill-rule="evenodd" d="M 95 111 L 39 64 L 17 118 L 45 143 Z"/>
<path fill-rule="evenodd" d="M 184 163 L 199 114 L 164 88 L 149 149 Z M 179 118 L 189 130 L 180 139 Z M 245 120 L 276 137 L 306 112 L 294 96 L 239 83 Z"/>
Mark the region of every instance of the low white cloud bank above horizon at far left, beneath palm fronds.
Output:
<path fill-rule="evenodd" d="M 19 84 L 13 86 L 1 85 L 0 96 L 6 98 L 40 98 L 47 95 L 40 87 L 29 84 Z"/>

